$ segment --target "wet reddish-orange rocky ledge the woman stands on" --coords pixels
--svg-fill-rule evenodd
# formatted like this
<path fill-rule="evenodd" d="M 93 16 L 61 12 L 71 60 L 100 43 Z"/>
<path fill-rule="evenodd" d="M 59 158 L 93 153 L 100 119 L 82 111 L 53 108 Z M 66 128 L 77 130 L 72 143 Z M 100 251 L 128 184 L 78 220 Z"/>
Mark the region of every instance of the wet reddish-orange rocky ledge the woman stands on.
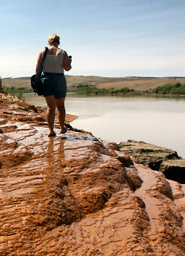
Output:
<path fill-rule="evenodd" d="M 185 254 L 183 184 L 28 107 L 1 108 L 1 256 Z"/>

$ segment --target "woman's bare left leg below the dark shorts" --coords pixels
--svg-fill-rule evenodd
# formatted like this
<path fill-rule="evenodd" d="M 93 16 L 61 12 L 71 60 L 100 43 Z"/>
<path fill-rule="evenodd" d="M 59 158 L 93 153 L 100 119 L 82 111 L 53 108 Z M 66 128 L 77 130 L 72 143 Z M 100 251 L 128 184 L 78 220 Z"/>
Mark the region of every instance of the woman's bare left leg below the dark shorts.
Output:
<path fill-rule="evenodd" d="M 56 102 L 55 102 L 55 96 L 46 96 L 45 97 L 47 102 L 47 124 L 50 129 L 50 135 L 55 134 L 53 127 L 54 127 L 54 121 L 55 121 L 55 108 L 56 108 Z"/>

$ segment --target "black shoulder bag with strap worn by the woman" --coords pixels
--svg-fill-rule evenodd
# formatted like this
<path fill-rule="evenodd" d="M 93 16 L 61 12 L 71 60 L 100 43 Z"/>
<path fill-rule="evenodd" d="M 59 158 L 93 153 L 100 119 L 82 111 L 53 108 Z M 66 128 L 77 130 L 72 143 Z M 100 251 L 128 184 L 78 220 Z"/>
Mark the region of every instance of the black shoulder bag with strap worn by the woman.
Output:
<path fill-rule="evenodd" d="M 46 59 L 46 56 L 47 56 L 47 50 L 48 50 L 48 47 L 45 47 L 44 56 L 41 61 L 41 66 L 39 68 L 38 73 L 36 73 L 31 77 L 31 87 L 33 88 L 34 93 L 35 94 L 37 93 L 38 96 L 43 95 L 43 92 L 44 92 L 44 85 L 41 82 L 41 73 L 43 70 L 44 60 Z"/>

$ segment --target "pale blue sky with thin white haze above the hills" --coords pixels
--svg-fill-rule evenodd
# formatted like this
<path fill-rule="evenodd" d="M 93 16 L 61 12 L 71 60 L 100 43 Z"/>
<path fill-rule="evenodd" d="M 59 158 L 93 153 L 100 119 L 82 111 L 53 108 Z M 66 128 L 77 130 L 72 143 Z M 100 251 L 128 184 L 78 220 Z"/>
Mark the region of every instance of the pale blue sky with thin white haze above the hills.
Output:
<path fill-rule="evenodd" d="M 185 0 L 0 0 L 0 76 L 35 73 L 51 33 L 78 76 L 185 76 Z"/>

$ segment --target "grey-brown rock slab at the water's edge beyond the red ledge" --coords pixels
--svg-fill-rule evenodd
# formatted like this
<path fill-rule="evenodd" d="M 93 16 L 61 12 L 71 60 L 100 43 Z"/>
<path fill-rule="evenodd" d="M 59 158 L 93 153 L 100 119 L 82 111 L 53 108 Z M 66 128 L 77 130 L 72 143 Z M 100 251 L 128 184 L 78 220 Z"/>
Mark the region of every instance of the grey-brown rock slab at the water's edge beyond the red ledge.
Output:
<path fill-rule="evenodd" d="M 121 152 L 133 156 L 138 163 L 154 171 L 163 172 L 167 179 L 185 183 L 185 160 L 182 160 L 176 151 L 135 140 L 120 142 L 118 148 Z"/>

